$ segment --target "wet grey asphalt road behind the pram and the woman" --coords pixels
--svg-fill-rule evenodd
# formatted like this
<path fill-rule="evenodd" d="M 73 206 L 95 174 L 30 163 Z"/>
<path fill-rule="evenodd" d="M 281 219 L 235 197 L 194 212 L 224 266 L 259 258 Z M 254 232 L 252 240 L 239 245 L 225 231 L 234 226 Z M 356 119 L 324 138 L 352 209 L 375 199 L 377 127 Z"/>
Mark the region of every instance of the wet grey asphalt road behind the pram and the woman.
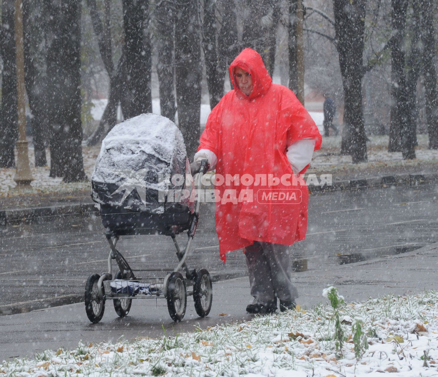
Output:
<path fill-rule="evenodd" d="M 184 246 L 187 236 L 179 239 Z M 318 270 L 437 241 L 438 185 L 427 183 L 311 195 L 307 237 L 292 252 Z M 217 245 L 213 208 L 202 205 L 189 267 L 207 268 L 218 279 L 245 275 L 242 252 L 229 253 L 224 265 Z M 173 269 L 177 263 L 170 237 L 122 237 L 117 248 L 132 267 Z M 108 254 L 95 216 L 0 228 L 0 314 L 78 302 L 87 277 L 107 270 Z"/>

